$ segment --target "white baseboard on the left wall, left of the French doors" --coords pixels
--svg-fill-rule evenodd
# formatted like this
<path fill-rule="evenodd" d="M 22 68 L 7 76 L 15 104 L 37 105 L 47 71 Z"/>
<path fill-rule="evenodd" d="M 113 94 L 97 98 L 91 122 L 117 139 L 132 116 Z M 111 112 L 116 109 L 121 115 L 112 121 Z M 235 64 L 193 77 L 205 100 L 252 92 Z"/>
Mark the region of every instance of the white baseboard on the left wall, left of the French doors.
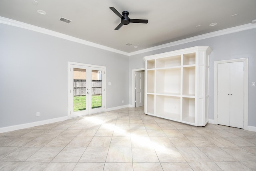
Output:
<path fill-rule="evenodd" d="M 64 116 L 64 117 L 57 117 L 57 118 L 53 118 L 53 119 L 47 119 L 47 120 L 43 120 L 43 121 L 36 121 L 36 122 L 24 123 L 24 124 L 20 124 L 20 125 L 13 125 L 13 126 L 9 126 L 9 127 L 2 127 L 2 128 L 0 128 L 0 133 L 15 131 L 18 129 L 25 129 L 25 128 L 29 128 L 29 127 L 35 127 L 35 126 L 40 126 L 40 125 L 45 125 L 48 123 L 65 121 L 67 119 L 69 119 L 68 116 Z"/>

